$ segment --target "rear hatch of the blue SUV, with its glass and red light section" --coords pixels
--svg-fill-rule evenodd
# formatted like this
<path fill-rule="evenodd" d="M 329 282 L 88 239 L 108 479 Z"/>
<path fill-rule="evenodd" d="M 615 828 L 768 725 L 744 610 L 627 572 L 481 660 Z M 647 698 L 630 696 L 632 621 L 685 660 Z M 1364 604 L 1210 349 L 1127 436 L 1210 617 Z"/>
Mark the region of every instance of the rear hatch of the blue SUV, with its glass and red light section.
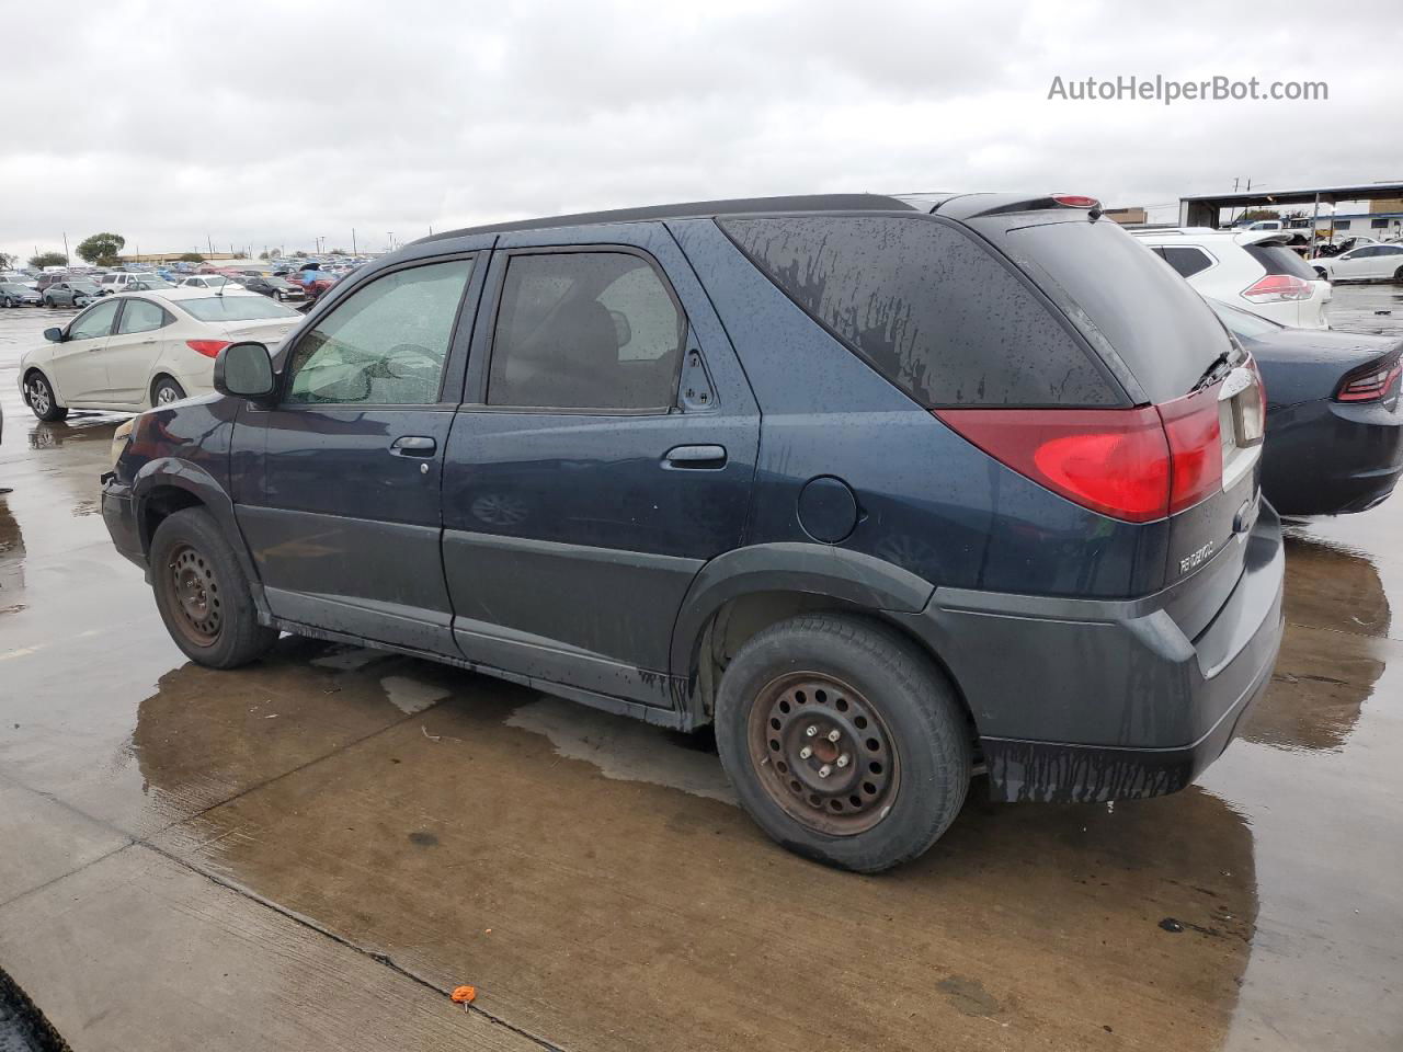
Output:
<path fill-rule="evenodd" d="M 1131 522 L 1167 518 L 1162 585 L 1173 588 L 1170 614 L 1195 638 L 1243 572 L 1260 508 L 1263 387 L 1250 355 L 1198 293 L 1099 216 L 1099 208 L 1082 206 L 955 217 L 1009 255 L 1121 382 L 1132 407 L 1111 412 L 1122 414 L 1117 426 L 1148 450 L 1150 459 L 1134 461 L 1146 492 L 1164 485 L 1152 457 L 1167 443 L 1167 499 L 1146 499 L 1134 515 L 1110 513 Z"/>

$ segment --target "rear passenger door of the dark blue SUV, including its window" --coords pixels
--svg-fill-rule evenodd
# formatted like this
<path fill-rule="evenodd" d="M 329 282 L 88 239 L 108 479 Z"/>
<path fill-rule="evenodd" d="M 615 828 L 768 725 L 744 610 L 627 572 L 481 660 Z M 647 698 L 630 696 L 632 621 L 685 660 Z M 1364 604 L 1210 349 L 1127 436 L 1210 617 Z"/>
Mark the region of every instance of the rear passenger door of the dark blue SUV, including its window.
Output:
<path fill-rule="evenodd" d="M 502 234 L 443 473 L 476 662 L 672 704 L 700 567 L 744 543 L 759 412 L 659 223 Z"/>

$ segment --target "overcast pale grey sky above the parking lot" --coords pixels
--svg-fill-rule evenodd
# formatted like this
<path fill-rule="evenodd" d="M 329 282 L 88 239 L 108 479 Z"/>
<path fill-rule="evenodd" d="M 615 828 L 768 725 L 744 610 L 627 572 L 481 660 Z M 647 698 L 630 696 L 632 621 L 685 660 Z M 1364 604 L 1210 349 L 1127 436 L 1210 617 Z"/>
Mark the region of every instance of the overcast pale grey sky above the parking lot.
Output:
<path fill-rule="evenodd" d="M 1232 8 L 1237 8 L 1235 14 Z M 389 231 L 814 191 L 1108 205 L 1403 180 L 1399 0 L 10 3 L 0 251 L 380 250 Z M 59 17 L 62 14 L 62 17 Z M 1054 76 L 1324 102 L 1048 100 Z M 1160 210 L 1172 217 L 1172 210 Z"/>

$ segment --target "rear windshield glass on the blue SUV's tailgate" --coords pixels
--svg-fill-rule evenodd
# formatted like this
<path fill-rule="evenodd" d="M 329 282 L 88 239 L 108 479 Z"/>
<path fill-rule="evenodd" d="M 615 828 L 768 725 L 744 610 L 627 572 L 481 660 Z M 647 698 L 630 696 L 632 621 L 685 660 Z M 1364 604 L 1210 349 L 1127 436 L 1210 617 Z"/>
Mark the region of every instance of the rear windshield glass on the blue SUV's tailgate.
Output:
<path fill-rule="evenodd" d="M 1104 339 L 1150 401 L 1187 394 L 1232 351 L 1202 297 L 1110 220 L 1016 227 L 996 236 L 1093 344 Z"/>

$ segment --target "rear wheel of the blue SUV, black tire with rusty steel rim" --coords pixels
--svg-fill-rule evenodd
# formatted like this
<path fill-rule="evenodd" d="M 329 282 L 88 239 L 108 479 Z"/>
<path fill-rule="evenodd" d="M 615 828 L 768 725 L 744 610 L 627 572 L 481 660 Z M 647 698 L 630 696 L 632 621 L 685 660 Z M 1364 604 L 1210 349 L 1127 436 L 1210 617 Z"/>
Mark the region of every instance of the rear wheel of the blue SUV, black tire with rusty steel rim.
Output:
<path fill-rule="evenodd" d="M 950 828 L 969 788 L 971 736 L 929 655 L 845 614 L 758 633 L 717 694 L 717 748 L 751 818 L 791 851 L 857 872 L 916 858 Z"/>

